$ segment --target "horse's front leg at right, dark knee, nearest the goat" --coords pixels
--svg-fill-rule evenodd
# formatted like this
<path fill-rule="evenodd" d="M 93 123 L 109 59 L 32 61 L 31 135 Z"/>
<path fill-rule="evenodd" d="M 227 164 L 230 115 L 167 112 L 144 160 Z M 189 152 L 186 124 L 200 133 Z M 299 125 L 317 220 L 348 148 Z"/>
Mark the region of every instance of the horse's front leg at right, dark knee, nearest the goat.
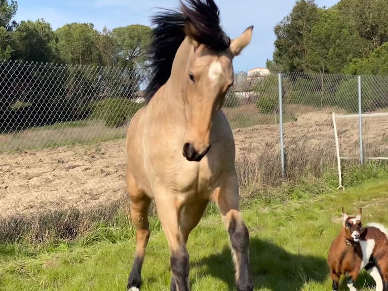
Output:
<path fill-rule="evenodd" d="M 249 233 L 242 219 L 239 205 L 239 184 L 236 172 L 222 177 L 212 195 L 229 233 L 232 258 L 235 263 L 236 285 L 239 291 L 252 291 L 249 263 Z"/>

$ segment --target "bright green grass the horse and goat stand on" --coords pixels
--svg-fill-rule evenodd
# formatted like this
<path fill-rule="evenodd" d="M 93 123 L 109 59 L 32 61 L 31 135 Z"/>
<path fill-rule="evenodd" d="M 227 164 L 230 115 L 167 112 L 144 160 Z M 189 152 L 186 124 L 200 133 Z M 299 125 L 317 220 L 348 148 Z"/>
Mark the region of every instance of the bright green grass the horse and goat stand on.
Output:
<path fill-rule="evenodd" d="M 363 222 L 388 225 L 388 179 L 382 176 L 345 191 L 304 193 L 298 199 L 269 204 L 245 201 L 243 216 L 250 231 L 250 258 L 255 290 L 329 290 L 326 263 L 331 241 L 340 229 L 342 205 L 348 213 L 363 207 Z M 135 248 L 134 230 L 103 227 L 76 242 L 32 247 L 0 245 L 1 290 L 124 290 Z M 227 232 L 214 206 L 190 234 L 192 290 L 232 290 L 234 271 Z M 169 251 L 158 220 L 142 272 L 142 290 L 169 290 Z M 373 287 L 362 274 L 360 290 Z M 341 290 L 346 290 L 342 283 Z"/>

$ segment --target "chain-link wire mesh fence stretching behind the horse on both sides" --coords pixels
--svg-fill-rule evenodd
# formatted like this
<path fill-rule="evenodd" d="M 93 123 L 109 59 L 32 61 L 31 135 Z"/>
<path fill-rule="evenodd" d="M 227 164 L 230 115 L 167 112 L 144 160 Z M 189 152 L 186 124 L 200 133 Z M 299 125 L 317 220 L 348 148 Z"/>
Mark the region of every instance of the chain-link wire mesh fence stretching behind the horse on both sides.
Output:
<path fill-rule="evenodd" d="M 0 215 L 89 209 L 125 195 L 124 137 L 146 80 L 126 67 L 0 63 Z M 223 112 L 240 183 L 274 184 L 282 178 L 278 75 L 237 81 Z M 386 81 L 362 77 L 363 112 L 388 107 Z M 283 72 L 282 100 L 287 178 L 322 175 L 336 163 L 331 113 L 358 113 L 357 76 Z M 388 123 L 378 119 L 363 119 L 364 150 L 387 156 Z M 341 154 L 358 157 L 357 118 L 337 126 Z"/>

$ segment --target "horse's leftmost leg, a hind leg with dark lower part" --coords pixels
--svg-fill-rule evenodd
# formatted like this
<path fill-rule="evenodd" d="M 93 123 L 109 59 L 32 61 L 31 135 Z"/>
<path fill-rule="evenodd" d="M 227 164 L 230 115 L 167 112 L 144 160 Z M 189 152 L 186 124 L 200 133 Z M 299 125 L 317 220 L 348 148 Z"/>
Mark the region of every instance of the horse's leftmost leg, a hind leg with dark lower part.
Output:
<path fill-rule="evenodd" d="M 131 220 L 136 228 L 136 250 L 127 290 L 137 291 L 140 289 L 141 268 L 149 239 L 148 207 L 151 199 L 137 188 L 130 174 L 127 175 L 127 189 L 131 200 Z"/>

